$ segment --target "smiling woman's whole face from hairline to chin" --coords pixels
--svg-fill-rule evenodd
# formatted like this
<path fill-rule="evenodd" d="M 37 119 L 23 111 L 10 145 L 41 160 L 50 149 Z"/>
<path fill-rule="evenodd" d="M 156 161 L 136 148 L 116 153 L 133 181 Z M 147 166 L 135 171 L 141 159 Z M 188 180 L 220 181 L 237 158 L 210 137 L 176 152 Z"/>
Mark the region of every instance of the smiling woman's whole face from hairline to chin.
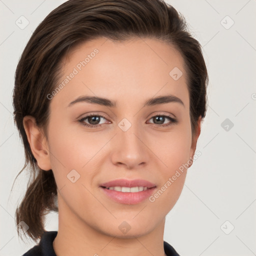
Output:
<path fill-rule="evenodd" d="M 98 38 L 62 63 L 47 127 L 59 218 L 115 236 L 154 230 L 177 201 L 194 153 L 181 55 L 156 39 Z M 124 183 L 105 184 L 117 179 Z M 125 188 L 136 186 L 146 190 Z"/>

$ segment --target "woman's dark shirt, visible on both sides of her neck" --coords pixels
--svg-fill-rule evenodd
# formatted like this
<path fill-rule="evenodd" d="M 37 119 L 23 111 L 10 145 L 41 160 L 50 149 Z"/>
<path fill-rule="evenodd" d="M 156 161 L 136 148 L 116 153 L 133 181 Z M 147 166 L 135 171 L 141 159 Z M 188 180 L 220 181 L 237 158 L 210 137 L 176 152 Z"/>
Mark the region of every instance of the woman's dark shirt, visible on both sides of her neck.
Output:
<path fill-rule="evenodd" d="M 45 231 L 41 237 L 39 244 L 29 249 L 22 256 L 56 256 L 52 245 L 52 242 L 56 235 L 57 231 Z M 179 256 L 174 248 L 165 241 L 163 241 L 163 248 L 167 256 Z"/>

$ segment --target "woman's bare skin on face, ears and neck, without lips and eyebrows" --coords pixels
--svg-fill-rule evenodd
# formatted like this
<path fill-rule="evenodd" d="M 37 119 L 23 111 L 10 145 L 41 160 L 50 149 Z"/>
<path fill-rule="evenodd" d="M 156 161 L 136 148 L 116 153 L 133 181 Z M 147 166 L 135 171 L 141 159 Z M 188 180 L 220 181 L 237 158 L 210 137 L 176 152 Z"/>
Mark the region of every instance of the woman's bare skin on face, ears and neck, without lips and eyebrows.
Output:
<path fill-rule="evenodd" d="M 192 137 L 183 59 L 174 47 L 152 38 L 128 42 L 97 38 L 61 60 L 60 82 L 95 48 L 99 50 L 95 57 L 50 99 L 47 139 L 32 116 L 23 119 L 38 166 L 52 169 L 58 187 L 54 251 L 57 256 L 165 255 L 165 215 L 181 193 L 186 169 L 154 202 L 117 203 L 100 191 L 99 184 L 141 178 L 158 190 L 193 157 L 201 119 Z M 183 72 L 178 80 L 169 75 L 173 67 Z M 166 94 L 177 96 L 184 105 L 168 102 L 143 107 L 148 98 Z M 116 100 L 116 107 L 88 102 L 67 106 L 81 95 Z M 78 121 L 88 113 L 107 118 L 99 119 L 99 127 L 89 128 Z M 152 117 L 162 114 L 178 122 L 161 127 Z M 127 131 L 118 126 L 123 118 L 131 124 Z M 83 122 L 93 124 L 89 118 Z M 67 178 L 72 169 L 80 175 L 74 183 Z M 126 234 L 118 228 L 123 221 L 130 225 Z"/>

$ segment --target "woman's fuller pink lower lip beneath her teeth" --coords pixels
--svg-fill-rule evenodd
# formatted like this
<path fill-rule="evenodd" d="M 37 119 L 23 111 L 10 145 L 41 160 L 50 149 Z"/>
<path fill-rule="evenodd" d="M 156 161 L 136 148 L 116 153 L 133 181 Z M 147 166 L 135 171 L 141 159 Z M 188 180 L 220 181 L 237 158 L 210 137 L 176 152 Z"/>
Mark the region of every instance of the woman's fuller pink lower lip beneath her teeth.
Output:
<path fill-rule="evenodd" d="M 124 204 L 140 203 L 148 198 L 156 187 L 147 188 L 139 192 L 120 192 L 100 186 L 100 189 L 113 201 Z"/>

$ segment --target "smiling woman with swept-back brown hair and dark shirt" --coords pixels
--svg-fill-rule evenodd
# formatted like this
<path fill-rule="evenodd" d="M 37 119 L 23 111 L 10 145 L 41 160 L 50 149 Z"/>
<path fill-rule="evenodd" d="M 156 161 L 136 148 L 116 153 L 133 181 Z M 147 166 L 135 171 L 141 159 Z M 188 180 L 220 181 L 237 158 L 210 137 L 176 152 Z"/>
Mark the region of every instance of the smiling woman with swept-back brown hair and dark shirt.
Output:
<path fill-rule="evenodd" d="M 15 73 L 33 174 L 17 231 L 40 239 L 23 255 L 179 255 L 164 221 L 192 164 L 206 85 L 200 44 L 164 1 L 69 0 L 51 11 Z M 49 211 L 58 231 L 44 229 Z"/>

